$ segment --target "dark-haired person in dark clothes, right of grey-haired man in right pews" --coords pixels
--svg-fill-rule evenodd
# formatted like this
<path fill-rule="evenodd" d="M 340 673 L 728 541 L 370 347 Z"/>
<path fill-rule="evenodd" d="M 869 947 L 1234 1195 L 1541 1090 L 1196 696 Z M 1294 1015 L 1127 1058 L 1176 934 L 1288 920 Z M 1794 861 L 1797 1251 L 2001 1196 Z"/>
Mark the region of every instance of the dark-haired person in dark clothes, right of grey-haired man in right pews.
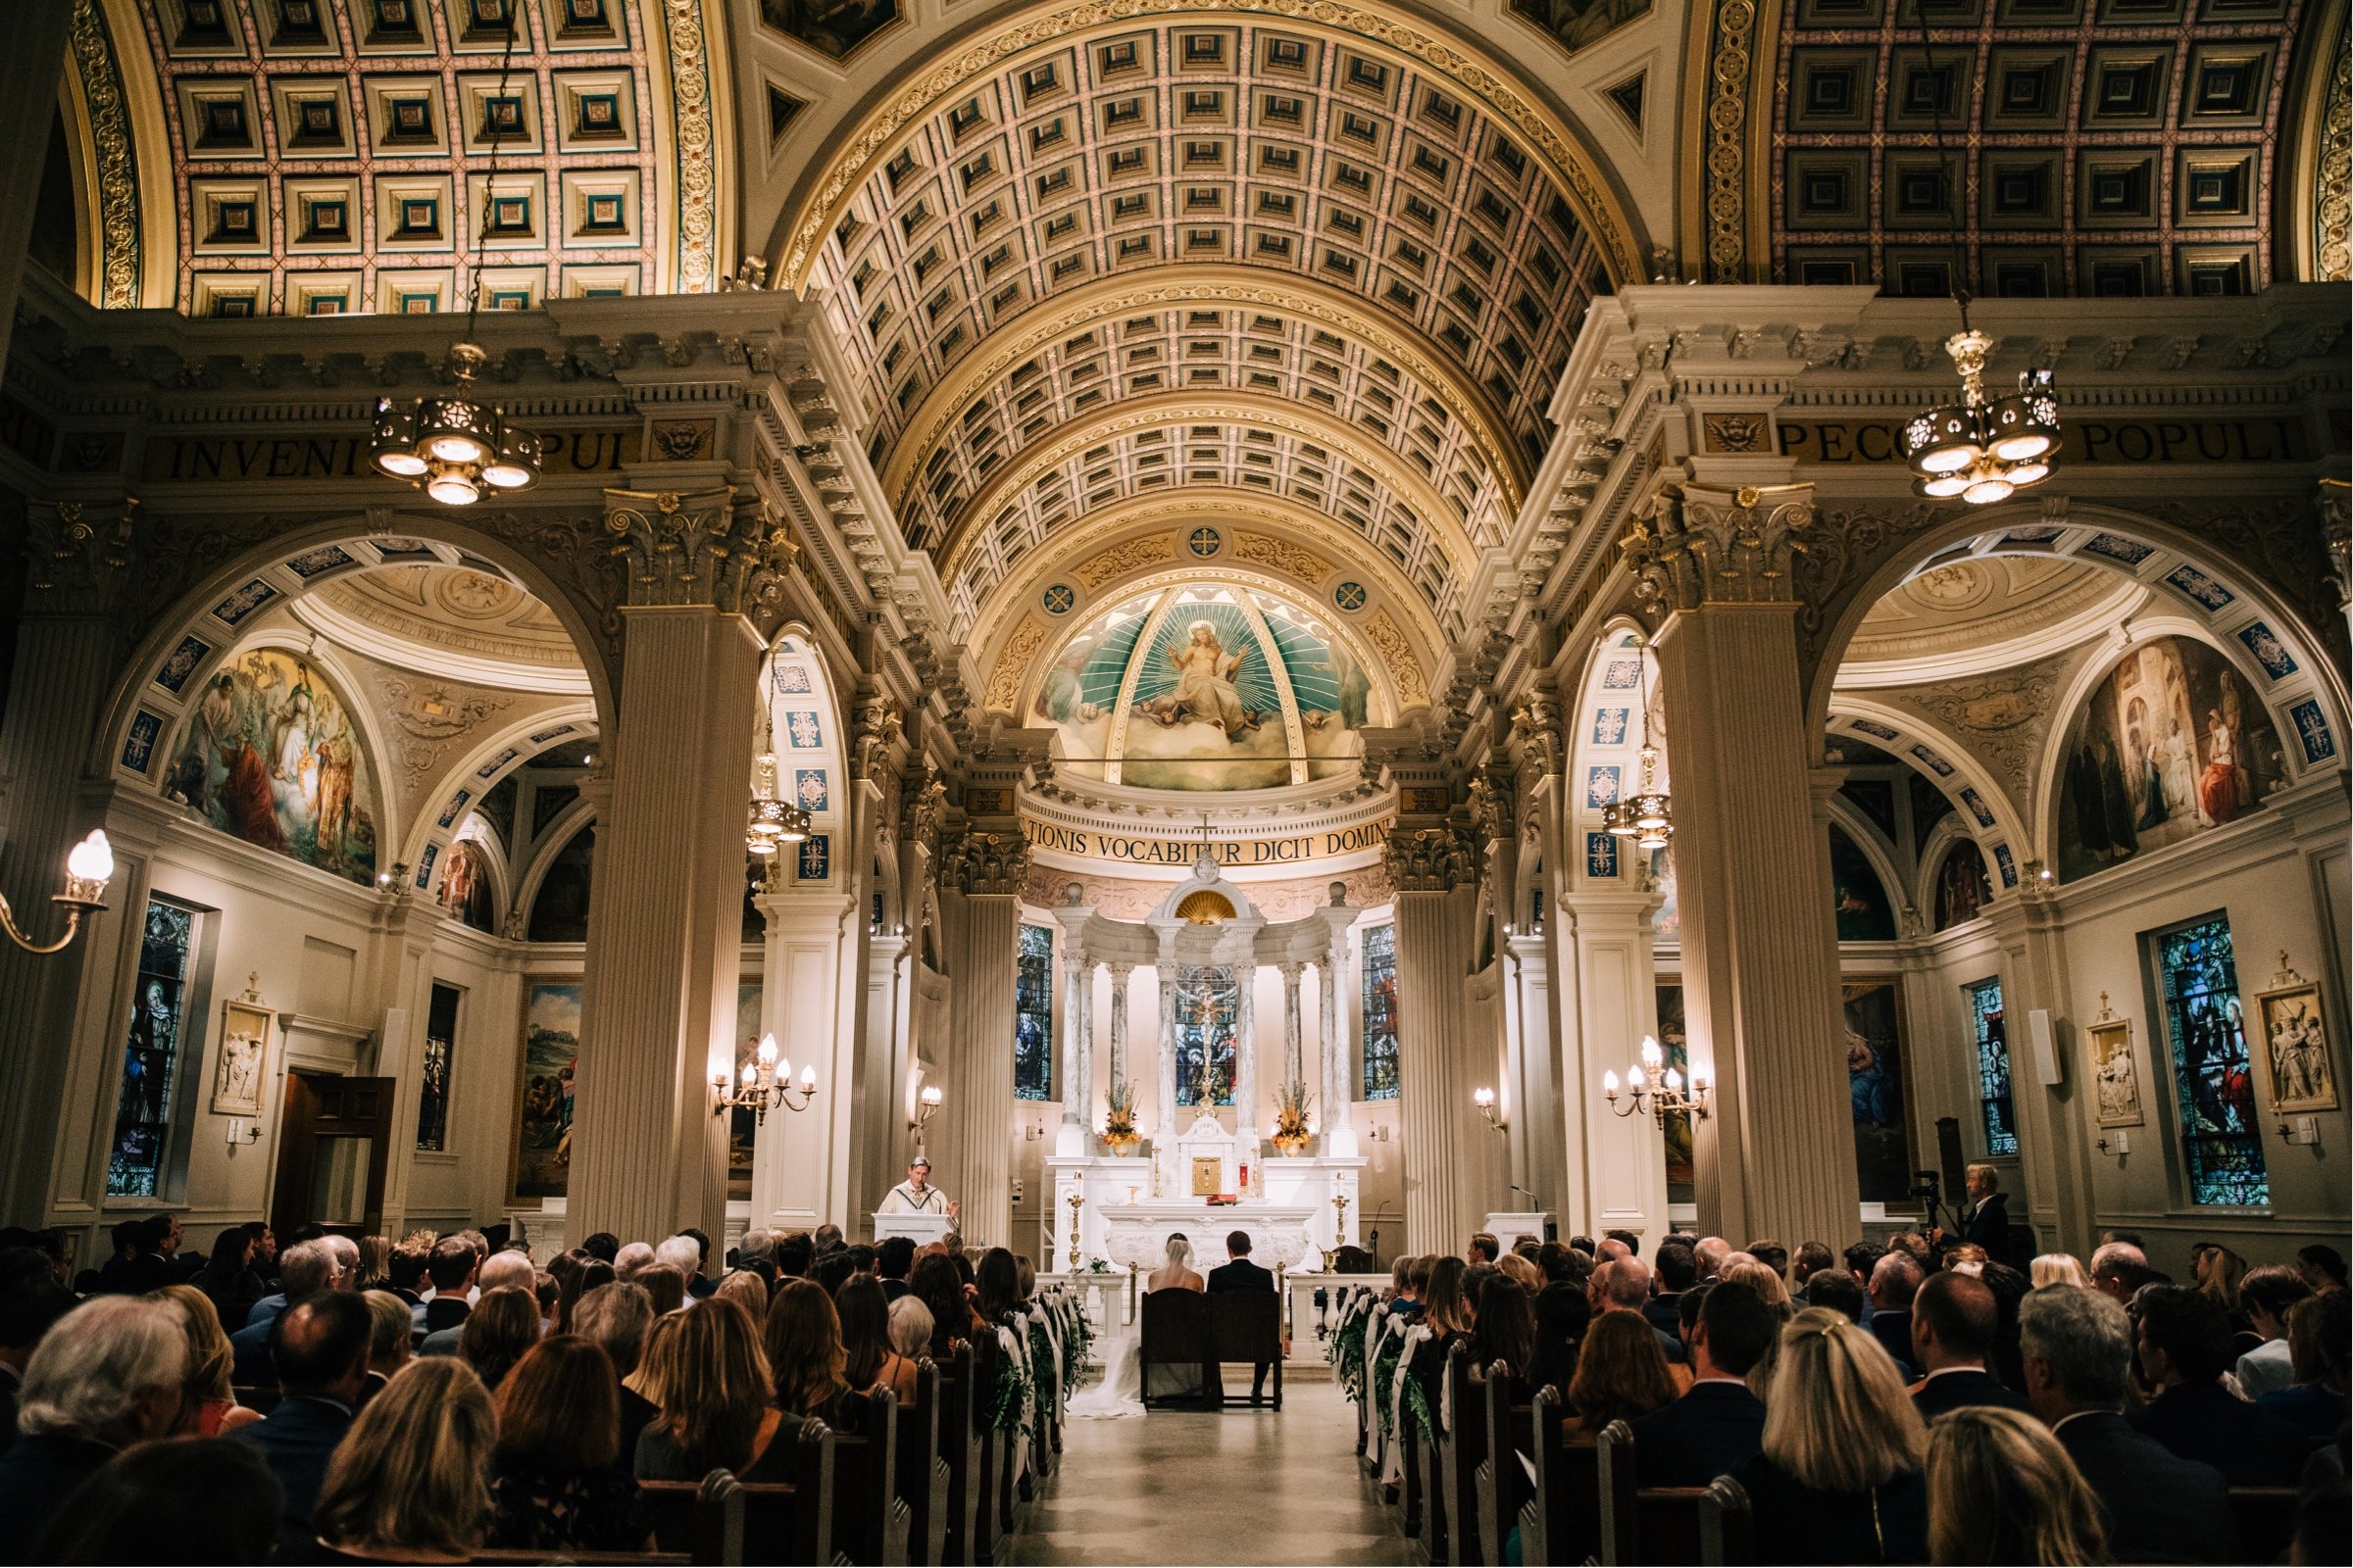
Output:
<path fill-rule="evenodd" d="M 2212 1465 L 2231 1486 L 2294 1486 L 2306 1443 L 2221 1385 L 2231 1319 L 2198 1286 L 2148 1286 L 2134 1298 L 2141 1375 L 2155 1399 L 2125 1420 L 2184 1460 Z"/>

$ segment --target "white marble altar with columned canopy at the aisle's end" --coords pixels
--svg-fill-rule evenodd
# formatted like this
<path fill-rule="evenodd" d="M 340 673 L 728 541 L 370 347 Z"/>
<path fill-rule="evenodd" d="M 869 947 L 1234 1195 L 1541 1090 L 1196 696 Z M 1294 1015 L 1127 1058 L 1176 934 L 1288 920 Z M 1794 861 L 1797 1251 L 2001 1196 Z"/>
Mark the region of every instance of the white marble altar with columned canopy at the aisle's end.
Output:
<path fill-rule="evenodd" d="M 1339 973 L 1358 917 L 1346 886 L 1334 882 L 1332 900 L 1304 919 L 1268 922 L 1226 882 L 1217 856 L 1202 851 L 1193 875 L 1141 922 L 1096 914 L 1080 898 L 1073 882 L 1054 910 L 1064 997 L 1056 1044 L 1066 1086 L 1054 1154 L 1045 1161 L 1054 1180 L 1054 1265 L 1080 1269 L 1108 1258 L 1151 1267 L 1172 1232 L 1193 1239 L 1195 1253 L 1212 1262 L 1219 1239 L 1233 1229 L 1249 1232 L 1261 1262 L 1285 1267 L 1322 1267 L 1334 1248 L 1355 1246 L 1365 1159 L 1348 1124 L 1346 1051 L 1322 1051 L 1320 1084 L 1308 1086 L 1299 1001 L 1306 971 L 1315 966 L 1322 1018 L 1339 1016 Z M 1252 1001 L 1261 966 L 1282 976 L 1280 1056 L 1264 1060 Z M 1104 1105 L 1136 1107 L 1136 1143 L 1122 1138 L 1122 1147 L 1108 1145 L 1096 1121 L 1096 969 L 1111 971 Z M 1155 973 L 1160 994 L 1146 1063 L 1148 1121 L 1127 1039 L 1127 987 L 1136 969 Z M 1289 1126 L 1285 1105 L 1301 1112 Z M 1320 1121 L 1304 1119 L 1311 1105 L 1322 1107 Z"/>

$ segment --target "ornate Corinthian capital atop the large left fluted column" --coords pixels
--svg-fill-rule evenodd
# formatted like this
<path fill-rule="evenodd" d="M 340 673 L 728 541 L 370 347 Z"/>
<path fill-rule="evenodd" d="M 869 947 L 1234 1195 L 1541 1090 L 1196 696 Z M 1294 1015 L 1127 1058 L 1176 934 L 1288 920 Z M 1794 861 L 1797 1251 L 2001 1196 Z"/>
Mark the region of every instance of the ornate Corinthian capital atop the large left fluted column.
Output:
<path fill-rule="evenodd" d="M 784 517 L 732 484 L 605 491 L 605 534 L 628 559 L 628 604 L 751 614 L 784 597 L 800 545 Z"/>

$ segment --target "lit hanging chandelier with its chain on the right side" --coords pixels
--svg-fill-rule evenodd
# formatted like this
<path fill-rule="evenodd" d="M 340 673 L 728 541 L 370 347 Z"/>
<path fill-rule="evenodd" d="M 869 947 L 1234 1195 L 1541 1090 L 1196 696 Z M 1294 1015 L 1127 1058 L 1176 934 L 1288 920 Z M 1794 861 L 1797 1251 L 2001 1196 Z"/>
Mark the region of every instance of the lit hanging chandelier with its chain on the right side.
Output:
<path fill-rule="evenodd" d="M 1934 71 L 1929 54 L 1927 7 L 1920 7 L 1920 61 Z M 1934 87 L 1937 167 L 1951 179 L 1944 143 L 1944 82 Z M 2019 374 L 2019 390 L 1986 397 L 1986 355 L 1993 339 L 1969 327 L 1967 252 L 1953 230 L 1953 303 L 1960 306 L 1960 331 L 1944 341 L 1960 371 L 1960 402 L 1918 414 L 1897 430 L 1897 447 L 1913 470 L 1913 491 L 1937 501 L 1960 496 L 1969 505 L 2009 501 L 2028 484 L 2052 475 L 2059 456 L 2059 393 L 2047 369 Z"/>

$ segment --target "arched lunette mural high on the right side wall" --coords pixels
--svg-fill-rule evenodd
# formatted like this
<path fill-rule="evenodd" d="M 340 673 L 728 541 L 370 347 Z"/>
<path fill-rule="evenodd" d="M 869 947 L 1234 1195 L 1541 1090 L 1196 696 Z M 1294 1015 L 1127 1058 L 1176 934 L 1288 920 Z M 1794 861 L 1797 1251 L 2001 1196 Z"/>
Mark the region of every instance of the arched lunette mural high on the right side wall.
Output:
<path fill-rule="evenodd" d="M 2059 879 L 2198 837 L 2287 778 L 2280 731 L 2202 642 L 2151 637 L 2118 658 L 2066 736 Z"/>

